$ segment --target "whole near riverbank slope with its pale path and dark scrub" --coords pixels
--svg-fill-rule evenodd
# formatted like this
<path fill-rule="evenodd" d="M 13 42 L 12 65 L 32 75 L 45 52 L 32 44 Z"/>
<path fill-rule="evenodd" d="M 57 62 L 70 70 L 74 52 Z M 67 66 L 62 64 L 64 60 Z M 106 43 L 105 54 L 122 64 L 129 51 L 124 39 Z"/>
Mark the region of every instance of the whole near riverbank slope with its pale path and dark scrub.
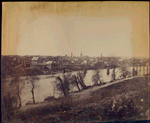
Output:
<path fill-rule="evenodd" d="M 150 77 L 131 77 L 91 87 L 69 97 L 24 106 L 24 122 L 110 121 L 148 119 Z"/>

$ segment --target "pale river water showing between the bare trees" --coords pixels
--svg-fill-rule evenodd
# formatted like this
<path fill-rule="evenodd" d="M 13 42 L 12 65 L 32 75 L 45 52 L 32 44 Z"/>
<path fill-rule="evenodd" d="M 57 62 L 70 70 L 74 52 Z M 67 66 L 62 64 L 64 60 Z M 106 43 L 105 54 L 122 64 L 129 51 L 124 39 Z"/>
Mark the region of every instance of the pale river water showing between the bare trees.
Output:
<path fill-rule="evenodd" d="M 129 68 L 130 71 L 132 71 L 132 67 Z M 102 80 L 104 82 L 110 82 L 111 80 L 111 73 L 112 69 L 110 69 L 110 74 L 106 74 L 107 70 L 106 69 L 101 69 L 100 73 L 102 75 Z M 93 85 L 93 82 L 91 80 L 92 75 L 94 71 L 93 70 L 88 70 L 86 77 L 84 79 L 84 82 L 87 86 Z M 71 72 L 71 74 L 77 74 L 77 71 Z M 36 102 L 41 102 L 44 101 L 44 99 L 48 96 L 55 96 L 59 97 L 58 91 L 54 91 L 54 81 L 55 77 L 53 76 L 60 76 L 62 77 L 63 73 L 57 73 L 55 75 L 38 75 L 39 80 L 37 81 L 37 87 L 35 88 L 35 101 Z M 116 69 L 116 79 L 120 76 L 120 71 L 117 68 Z M 7 81 L 10 81 L 12 78 L 7 79 Z M 22 80 L 25 82 L 25 86 L 21 92 L 21 100 L 22 100 L 22 105 L 25 105 L 27 102 L 32 101 L 32 94 L 31 94 L 31 86 L 28 80 L 26 80 L 26 77 L 21 77 Z M 73 90 L 77 90 L 77 88 L 73 88 Z M 56 93 L 54 93 L 56 92 Z"/>

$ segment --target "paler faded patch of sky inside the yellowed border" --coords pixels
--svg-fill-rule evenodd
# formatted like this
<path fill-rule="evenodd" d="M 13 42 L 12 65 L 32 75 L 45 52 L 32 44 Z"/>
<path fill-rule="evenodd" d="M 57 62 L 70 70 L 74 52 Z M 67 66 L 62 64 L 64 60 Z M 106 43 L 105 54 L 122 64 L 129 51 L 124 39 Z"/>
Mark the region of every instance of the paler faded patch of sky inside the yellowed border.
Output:
<path fill-rule="evenodd" d="M 19 55 L 132 56 L 127 17 L 44 16 L 23 31 Z"/>

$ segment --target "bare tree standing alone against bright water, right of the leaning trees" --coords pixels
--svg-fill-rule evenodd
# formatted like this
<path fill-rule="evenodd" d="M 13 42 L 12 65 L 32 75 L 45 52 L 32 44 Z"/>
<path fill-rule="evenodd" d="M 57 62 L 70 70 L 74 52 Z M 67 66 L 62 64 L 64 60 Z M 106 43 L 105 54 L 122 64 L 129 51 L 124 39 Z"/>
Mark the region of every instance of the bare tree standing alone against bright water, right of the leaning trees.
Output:
<path fill-rule="evenodd" d="M 94 85 L 101 85 L 102 84 L 102 81 L 101 81 L 101 74 L 100 74 L 100 70 L 95 70 L 94 71 L 94 74 L 92 76 L 92 81 L 94 82 Z"/>

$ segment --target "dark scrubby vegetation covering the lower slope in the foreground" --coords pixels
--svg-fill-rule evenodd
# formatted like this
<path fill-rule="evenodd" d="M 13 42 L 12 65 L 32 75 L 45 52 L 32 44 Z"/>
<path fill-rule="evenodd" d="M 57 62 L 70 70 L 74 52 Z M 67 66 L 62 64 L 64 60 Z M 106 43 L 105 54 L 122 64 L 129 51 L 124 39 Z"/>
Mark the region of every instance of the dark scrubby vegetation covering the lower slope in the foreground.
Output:
<path fill-rule="evenodd" d="M 147 118 L 147 98 L 143 92 L 130 91 L 114 97 L 106 97 L 103 100 L 90 102 L 91 99 L 72 102 L 68 98 L 62 99 L 61 105 L 49 109 L 42 109 L 36 116 L 22 117 L 30 122 L 66 122 L 66 121 L 123 121 Z M 140 97 L 139 99 L 137 97 Z M 31 113 L 32 114 L 32 113 Z M 28 116 L 30 116 L 28 114 Z"/>

